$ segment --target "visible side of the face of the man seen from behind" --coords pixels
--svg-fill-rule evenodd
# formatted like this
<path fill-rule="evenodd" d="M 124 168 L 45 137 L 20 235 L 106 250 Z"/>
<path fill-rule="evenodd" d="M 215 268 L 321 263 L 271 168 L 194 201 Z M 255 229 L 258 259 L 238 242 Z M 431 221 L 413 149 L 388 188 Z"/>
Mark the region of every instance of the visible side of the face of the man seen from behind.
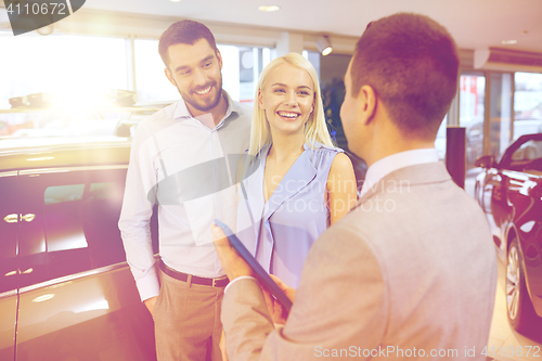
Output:
<path fill-rule="evenodd" d="M 361 145 L 363 145 L 363 140 L 361 139 L 360 131 L 362 130 L 360 124 L 360 104 L 358 98 L 352 95 L 352 77 L 351 77 L 351 66 L 352 61 L 348 64 L 348 69 L 345 75 L 345 101 L 340 106 L 340 121 L 343 123 L 343 129 L 345 130 L 345 136 L 348 141 L 348 147 L 356 153 L 358 156 L 362 155 Z"/>

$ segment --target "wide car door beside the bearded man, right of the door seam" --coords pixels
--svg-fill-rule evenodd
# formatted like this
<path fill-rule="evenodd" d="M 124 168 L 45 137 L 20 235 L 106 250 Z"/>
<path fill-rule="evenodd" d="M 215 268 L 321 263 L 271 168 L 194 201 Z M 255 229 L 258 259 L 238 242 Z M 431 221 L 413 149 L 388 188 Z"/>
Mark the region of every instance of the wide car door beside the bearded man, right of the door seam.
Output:
<path fill-rule="evenodd" d="M 126 165 L 20 172 L 16 360 L 154 360 L 117 228 Z"/>

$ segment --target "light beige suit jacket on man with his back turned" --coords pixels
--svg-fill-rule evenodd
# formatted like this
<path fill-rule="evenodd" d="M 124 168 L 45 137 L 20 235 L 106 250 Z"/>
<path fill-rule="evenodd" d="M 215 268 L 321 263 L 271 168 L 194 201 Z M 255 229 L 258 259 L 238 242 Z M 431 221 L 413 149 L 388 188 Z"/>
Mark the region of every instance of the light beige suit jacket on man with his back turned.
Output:
<path fill-rule="evenodd" d="M 222 304 L 228 356 L 485 360 L 495 286 L 478 205 L 443 164 L 405 167 L 314 243 L 284 327 L 273 327 L 255 281 L 231 285 Z M 466 358 L 473 348 L 476 358 Z"/>

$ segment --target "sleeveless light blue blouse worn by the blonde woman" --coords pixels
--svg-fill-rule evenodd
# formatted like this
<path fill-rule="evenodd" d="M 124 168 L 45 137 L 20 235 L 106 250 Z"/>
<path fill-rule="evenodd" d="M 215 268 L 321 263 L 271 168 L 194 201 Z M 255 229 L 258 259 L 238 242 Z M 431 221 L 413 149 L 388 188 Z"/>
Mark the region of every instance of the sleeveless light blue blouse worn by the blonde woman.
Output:
<path fill-rule="evenodd" d="M 327 177 L 339 149 L 315 143 L 288 169 L 264 202 L 263 171 L 271 145 L 251 160 L 240 190 L 237 236 L 266 271 L 297 288 L 310 246 L 330 225 Z M 247 162 L 245 159 L 245 162 Z"/>

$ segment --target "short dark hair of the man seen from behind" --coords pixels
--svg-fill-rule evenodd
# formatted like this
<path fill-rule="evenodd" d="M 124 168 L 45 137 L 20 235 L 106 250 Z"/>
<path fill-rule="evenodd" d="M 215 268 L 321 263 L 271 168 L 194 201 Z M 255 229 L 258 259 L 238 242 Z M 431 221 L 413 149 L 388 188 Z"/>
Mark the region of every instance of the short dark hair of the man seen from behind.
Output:
<path fill-rule="evenodd" d="M 352 95 L 371 86 L 406 134 L 434 137 L 457 87 L 459 54 L 444 27 L 398 13 L 370 23 L 356 44 Z"/>

